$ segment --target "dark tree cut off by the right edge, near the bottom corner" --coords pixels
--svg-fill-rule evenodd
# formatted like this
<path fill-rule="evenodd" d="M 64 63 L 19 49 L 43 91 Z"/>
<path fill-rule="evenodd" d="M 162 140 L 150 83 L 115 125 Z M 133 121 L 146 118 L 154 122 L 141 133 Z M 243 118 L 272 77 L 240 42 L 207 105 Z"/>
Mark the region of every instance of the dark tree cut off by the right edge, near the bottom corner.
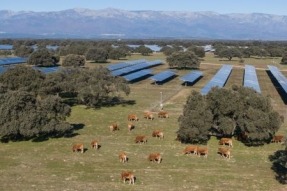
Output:
<path fill-rule="evenodd" d="M 281 184 L 287 184 L 287 150 L 278 150 L 269 155 L 271 169 L 276 173 L 275 179 Z"/>

